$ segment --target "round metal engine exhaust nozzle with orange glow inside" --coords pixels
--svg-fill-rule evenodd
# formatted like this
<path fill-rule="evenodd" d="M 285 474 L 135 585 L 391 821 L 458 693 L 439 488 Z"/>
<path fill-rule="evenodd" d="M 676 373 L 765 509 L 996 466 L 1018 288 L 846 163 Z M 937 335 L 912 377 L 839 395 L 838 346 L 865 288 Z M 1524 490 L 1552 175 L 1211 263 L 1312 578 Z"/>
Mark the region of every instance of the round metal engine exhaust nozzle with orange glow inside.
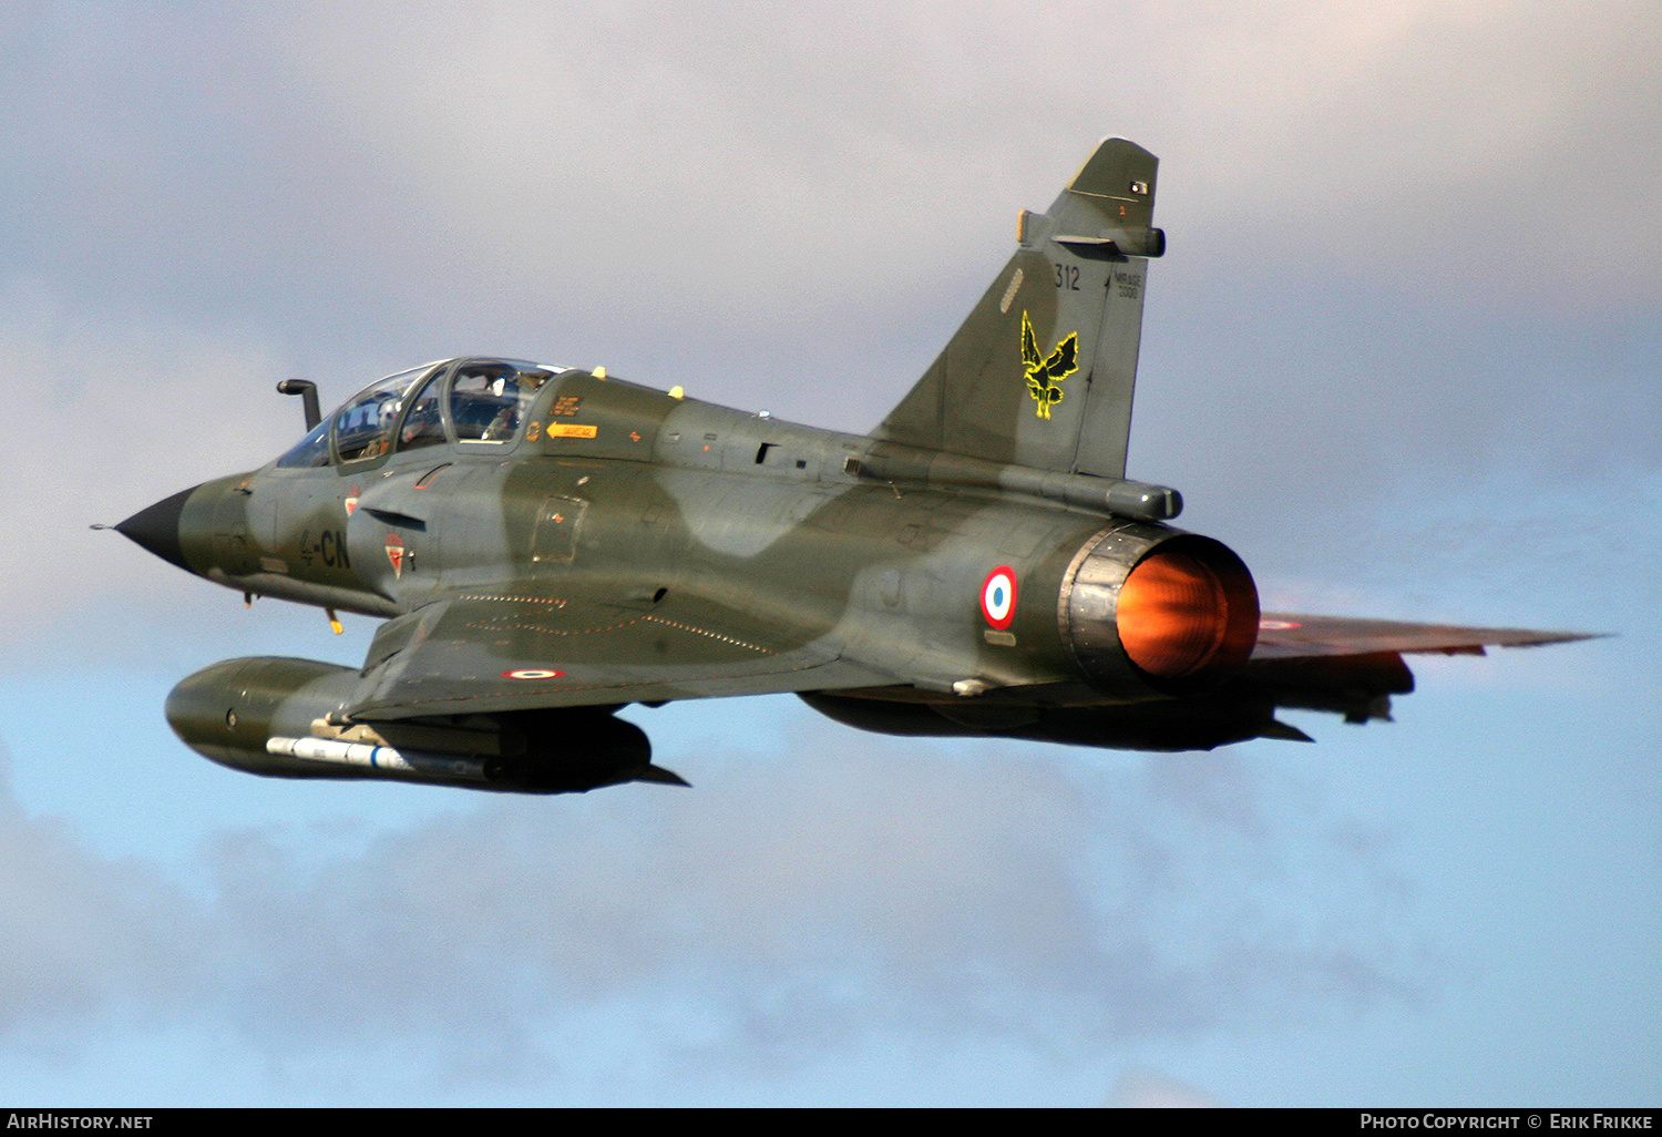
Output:
<path fill-rule="evenodd" d="M 1057 623 L 1097 690 L 1182 695 L 1251 658 L 1258 588 L 1222 542 L 1115 522 L 1062 573 Z"/>

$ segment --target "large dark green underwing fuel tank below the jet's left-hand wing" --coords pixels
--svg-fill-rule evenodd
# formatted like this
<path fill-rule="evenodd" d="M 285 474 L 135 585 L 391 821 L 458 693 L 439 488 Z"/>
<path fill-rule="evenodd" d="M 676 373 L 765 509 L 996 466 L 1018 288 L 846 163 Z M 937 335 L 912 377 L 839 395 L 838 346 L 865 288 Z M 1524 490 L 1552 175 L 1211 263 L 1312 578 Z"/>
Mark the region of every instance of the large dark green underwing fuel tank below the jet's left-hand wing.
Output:
<path fill-rule="evenodd" d="M 316 660 L 226 660 L 168 695 L 168 725 L 219 765 L 276 778 L 384 778 L 519 793 L 686 785 L 610 708 L 344 721 L 359 673 Z"/>

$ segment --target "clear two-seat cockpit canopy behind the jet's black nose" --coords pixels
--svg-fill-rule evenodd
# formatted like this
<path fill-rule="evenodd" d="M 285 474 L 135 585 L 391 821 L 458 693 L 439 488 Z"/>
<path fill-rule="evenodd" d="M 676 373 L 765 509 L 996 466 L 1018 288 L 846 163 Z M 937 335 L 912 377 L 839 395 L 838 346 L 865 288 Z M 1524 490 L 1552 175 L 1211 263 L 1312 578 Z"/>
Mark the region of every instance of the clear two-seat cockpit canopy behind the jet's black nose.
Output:
<path fill-rule="evenodd" d="M 424 445 L 514 441 L 542 386 L 565 371 L 524 359 L 454 359 L 377 379 L 278 459 L 284 469 L 362 462 Z"/>

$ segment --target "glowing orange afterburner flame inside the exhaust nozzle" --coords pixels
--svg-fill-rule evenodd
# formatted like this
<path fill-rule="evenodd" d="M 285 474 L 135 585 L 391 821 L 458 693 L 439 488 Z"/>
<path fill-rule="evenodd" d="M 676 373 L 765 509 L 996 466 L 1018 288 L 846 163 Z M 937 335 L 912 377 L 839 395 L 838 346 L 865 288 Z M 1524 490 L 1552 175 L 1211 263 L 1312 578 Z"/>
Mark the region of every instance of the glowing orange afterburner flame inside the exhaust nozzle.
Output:
<path fill-rule="evenodd" d="M 1218 573 L 1180 552 L 1155 552 L 1120 587 L 1117 623 L 1132 663 L 1157 678 L 1182 678 L 1223 662 L 1228 593 Z"/>

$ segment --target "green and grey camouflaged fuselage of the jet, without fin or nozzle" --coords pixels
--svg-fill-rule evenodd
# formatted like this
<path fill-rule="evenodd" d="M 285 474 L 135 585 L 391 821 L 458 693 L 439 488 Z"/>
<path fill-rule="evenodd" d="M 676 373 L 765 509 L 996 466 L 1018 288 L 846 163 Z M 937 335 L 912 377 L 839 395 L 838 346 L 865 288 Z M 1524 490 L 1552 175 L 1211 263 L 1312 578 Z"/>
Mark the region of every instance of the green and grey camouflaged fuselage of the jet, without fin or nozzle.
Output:
<path fill-rule="evenodd" d="M 548 414 L 573 397 L 573 416 Z M 610 682 L 627 683 L 620 701 L 725 693 L 781 655 L 783 690 L 831 663 L 843 678 L 826 687 L 1077 680 L 1064 573 L 1133 522 L 849 472 L 874 449 L 902 450 L 568 371 L 515 442 L 221 479 L 188 499 L 179 532 L 186 567 L 258 595 L 381 617 L 469 603 L 499 678 L 562 672 L 504 682 L 515 700 L 575 705 Z M 1004 630 L 979 603 L 997 567 L 1020 588 Z M 630 673 L 643 652 L 668 668 L 652 690 Z"/>

